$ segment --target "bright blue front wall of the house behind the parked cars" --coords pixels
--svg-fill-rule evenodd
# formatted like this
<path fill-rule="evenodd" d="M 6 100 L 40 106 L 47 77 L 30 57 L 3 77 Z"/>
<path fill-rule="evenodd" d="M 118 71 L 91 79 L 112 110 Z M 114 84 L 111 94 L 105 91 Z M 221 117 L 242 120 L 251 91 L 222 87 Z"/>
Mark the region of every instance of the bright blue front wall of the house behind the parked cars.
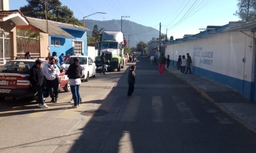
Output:
<path fill-rule="evenodd" d="M 60 56 L 62 53 L 65 55 L 72 55 L 73 54 L 73 40 L 82 40 L 84 42 L 84 55 L 87 55 L 87 32 L 78 30 L 76 28 L 65 28 L 60 27 L 65 30 L 67 33 L 71 34 L 73 37 L 61 37 L 61 36 L 53 36 L 50 35 L 49 37 L 49 46 L 50 52 L 57 52 L 57 55 Z M 52 46 L 51 40 L 60 40 L 60 46 Z"/>

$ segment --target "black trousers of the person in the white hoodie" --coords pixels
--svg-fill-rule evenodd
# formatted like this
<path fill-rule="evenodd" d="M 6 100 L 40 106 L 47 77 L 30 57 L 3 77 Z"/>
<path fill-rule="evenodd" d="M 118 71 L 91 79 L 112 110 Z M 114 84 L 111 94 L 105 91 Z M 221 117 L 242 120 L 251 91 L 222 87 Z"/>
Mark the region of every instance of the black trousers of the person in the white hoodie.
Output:
<path fill-rule="evenodd" d="M 51 98 L 58 98 L 59 94 L 59 81 L 58 78 L 55 80 L 46 80 L 47 88 L 50 92 Z"/>

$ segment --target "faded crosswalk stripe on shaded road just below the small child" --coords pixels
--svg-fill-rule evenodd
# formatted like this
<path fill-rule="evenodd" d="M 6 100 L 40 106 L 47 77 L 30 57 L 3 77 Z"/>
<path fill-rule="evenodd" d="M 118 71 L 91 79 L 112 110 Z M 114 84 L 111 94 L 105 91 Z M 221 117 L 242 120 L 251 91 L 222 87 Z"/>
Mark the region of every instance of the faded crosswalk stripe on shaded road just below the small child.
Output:
<path fill-rule="evenodd" d="M 140 104 L 140 96 L 129 98 L 125 110 L 121 112 L 121 121 L 134 121 L 138 114 L 138 107 Z"/>

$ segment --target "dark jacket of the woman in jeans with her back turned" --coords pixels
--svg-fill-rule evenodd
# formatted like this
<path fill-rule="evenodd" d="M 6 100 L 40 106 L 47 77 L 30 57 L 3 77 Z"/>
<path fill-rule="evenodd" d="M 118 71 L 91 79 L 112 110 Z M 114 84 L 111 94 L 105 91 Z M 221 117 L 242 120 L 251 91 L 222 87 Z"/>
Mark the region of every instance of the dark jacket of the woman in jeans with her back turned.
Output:
<path fill-rule="evenodd" d="M 76 63 L 72 63 L 69 66 L 69 69 L 67 70 L 67 72 L 65 72 L 65 74 L 67 75 L 67 77 L 69 77 L 69 79 L 78 79 L 82 77 L 82 67 L 80 66 L 80 64 L 76 65 Z"/>

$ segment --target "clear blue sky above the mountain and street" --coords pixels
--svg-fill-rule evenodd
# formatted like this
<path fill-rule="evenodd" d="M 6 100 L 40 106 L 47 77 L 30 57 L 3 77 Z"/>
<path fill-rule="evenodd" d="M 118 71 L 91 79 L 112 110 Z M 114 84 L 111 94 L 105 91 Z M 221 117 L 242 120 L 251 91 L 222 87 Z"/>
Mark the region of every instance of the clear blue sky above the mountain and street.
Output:
<path fill-rule="evenodd" d="M 221 26 L 229 21 L 238 21 L 233 15 L 238 9 L 237 0 L 60 0 L 74 12 L 74 16 L 82 19 L 95 12 L 88 19 L 111 20 L 121 19 L 122 15 L 130 15 L 126 20 L 159 29 L 174 39 L 185 34 L 199 33 L 199 28 L 207 25 Z M 19 9 L 27 4 L 26 0 L 9 0 L 10 9 Z M 193 5 L 194 4 L 194 5 Z M 183 18 L 182 18 L 183 17 Z M 184 19 L 184 20 L 183 20 Z M 181 22 L 183 21 L 183 22 Z M 120 30 L 120 29 L 116 29 Z M 141 35 L 147 35 L 142 31 Z M 158 37 L 158 36 L 152 36 Z"/>

